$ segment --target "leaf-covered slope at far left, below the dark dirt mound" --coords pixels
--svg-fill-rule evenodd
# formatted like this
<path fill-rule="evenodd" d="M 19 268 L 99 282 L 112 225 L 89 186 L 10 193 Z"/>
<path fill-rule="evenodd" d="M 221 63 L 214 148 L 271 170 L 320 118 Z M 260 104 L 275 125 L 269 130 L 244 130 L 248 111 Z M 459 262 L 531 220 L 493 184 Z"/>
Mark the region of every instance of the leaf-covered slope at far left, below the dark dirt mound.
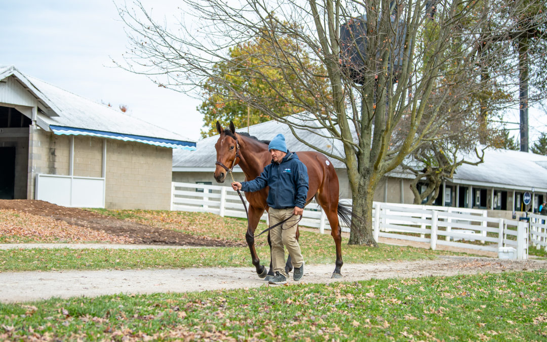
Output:
<path fill-rule="evenodd" d="M 104 231 L 78 227 L 51 217 L 16 210 L 0 210 L 0 236 L 3 236 L 5 242 L 21 242 L 22 237 L 36 242 L 133 242 L 129 237 L 114 236 Z"/>

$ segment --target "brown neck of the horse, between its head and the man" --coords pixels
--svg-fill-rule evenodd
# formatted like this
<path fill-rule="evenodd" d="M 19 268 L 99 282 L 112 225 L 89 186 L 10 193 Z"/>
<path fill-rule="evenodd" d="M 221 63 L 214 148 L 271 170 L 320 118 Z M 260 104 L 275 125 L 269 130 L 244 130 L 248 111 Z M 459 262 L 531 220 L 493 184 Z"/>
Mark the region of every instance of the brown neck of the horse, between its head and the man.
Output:
<path fill-rule="evenodd" d="M 267 146 L 252 138 L 240 136 L 240 162 L 239 165 L 247 179 L 257 178 L 270 163 L 270 154 Z"/>

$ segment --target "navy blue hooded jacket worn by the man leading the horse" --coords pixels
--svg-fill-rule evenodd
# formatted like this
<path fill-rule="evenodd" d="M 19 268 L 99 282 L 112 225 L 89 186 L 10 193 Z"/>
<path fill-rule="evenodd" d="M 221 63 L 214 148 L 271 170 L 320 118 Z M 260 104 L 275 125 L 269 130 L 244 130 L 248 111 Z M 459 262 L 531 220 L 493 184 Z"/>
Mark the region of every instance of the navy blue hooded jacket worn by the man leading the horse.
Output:
<path fill-rule="evenodd" d="M 275 209 L 299 207 L 306 205 L 308 190 L 307 167 L 294 152 L 287 153 L 281 163 L 264 167 L 260 176 L 252 181 L 241 183 L 241 190 L 255 192 L 270 187 L 266 203 Z"/>

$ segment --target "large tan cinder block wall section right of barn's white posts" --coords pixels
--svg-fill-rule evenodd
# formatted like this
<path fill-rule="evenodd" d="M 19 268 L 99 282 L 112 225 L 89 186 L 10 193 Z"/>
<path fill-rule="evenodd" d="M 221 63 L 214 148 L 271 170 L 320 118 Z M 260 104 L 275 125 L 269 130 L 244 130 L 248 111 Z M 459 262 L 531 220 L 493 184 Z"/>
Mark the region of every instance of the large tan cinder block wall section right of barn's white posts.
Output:
<path fill-rule="evenodd" d="M 106 155 L 107 208 L 169 210 L 170 148 L 108 140 Z"/>

